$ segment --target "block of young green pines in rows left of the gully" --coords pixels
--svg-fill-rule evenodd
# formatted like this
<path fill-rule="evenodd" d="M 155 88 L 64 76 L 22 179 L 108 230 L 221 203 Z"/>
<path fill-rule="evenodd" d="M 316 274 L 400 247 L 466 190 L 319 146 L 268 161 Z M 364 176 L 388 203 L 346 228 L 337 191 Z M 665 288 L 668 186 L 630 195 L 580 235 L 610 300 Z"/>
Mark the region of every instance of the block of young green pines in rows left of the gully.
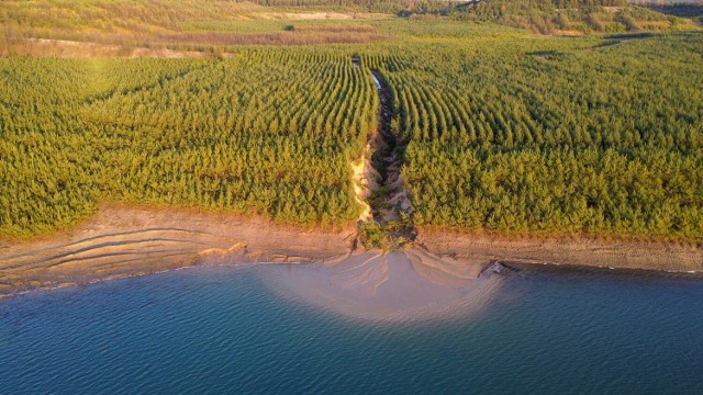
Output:
<path fill-rule="evenodd" d="M 5 58 L 0 70 L 4 236 L 66 228 L 100 200 L 304 225 L 358 215 L 349 161 L 375 127 L 378 98 L 348 56 Z"/>

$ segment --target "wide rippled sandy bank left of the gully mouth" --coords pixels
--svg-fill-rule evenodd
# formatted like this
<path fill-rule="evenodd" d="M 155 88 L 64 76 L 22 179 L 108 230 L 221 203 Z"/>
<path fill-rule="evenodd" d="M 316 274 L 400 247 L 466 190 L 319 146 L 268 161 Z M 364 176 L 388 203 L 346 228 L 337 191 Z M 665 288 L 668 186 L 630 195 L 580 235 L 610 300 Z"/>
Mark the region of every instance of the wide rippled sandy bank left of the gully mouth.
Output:
<path fill-rule="evenodd" d="M 105 207 L 45 240 L 0 241 L 0 296 L 176 268 L 325 262 L 348 255 L 354 229 L 311 230 L 190 211 Z"/>

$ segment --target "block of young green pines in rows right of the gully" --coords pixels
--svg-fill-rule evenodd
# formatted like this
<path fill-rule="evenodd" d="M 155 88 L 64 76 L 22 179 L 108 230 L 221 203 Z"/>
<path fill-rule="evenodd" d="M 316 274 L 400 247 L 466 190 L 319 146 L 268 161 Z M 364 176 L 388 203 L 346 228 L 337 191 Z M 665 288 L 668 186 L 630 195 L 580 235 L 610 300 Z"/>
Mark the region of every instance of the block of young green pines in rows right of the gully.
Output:
<path fill-rule="evenodd" d="M 410 142 L 416 225 L 701 239 L 703 36 L 569 41 L 365 59 Z"/>

